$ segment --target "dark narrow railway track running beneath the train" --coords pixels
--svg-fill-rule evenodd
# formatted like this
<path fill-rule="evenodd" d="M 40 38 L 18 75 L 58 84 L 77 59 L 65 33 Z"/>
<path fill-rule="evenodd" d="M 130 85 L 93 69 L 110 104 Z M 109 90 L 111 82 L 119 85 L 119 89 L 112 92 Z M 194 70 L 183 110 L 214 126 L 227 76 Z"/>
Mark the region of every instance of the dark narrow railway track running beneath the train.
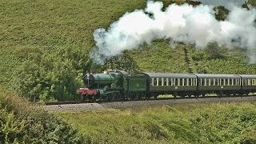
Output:
<path fill-rule="evenodd" d="M 136 100 L 120 100 L 120 101 L 110 101 L 110 102 L 143 102 L 143 101 L 162 101 L 162 100 L 181 100 L 181 99 L 206 99 L 206 98 L 246 98 L 255 97 L 256 95 L 233 95 L 233 96 L 205 96 L 205 97 L 185 97 L 185 98 L 142 98 Z M 65 102 L 46 102 L 46 106 L 52 105 L 70 105 L 70 104 L 83 104 L 83 103 L 109 103 L 103 101 L 65 101 Z"/>

